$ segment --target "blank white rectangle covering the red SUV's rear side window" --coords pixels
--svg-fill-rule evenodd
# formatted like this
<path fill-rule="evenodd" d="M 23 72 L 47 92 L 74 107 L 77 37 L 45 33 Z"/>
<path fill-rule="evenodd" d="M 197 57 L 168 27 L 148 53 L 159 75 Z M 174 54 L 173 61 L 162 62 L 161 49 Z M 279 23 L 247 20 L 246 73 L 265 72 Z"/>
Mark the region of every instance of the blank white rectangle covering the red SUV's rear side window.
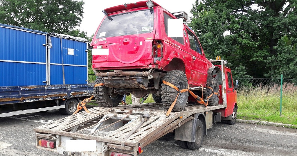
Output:
<path fill-rule="evenodd" d="M 168 19 L 168 37 L 183 37 L 183 19 Z"/>

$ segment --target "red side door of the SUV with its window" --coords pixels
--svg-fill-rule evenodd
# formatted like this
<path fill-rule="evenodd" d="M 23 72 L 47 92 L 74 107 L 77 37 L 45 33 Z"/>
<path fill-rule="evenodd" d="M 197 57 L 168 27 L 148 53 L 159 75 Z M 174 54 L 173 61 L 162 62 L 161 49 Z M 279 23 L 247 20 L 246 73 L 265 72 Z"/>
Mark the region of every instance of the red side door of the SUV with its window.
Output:
<path fill-rule="evenodd" d="M 197 84 L 205 84 L 208 70 L 206 58 L 198 38 L 190 30 L 186 30 L 188 34 L 186 43 L 189 45 L 192 54 L 192 81 Z"/>

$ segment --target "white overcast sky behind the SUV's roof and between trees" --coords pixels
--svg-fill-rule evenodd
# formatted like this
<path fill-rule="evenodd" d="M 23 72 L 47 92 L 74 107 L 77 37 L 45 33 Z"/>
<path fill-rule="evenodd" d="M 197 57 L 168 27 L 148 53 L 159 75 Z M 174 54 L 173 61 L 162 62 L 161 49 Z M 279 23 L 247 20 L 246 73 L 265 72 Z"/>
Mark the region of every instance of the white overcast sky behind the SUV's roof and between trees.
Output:
<path fill-rule="evenodd" d="M 142 0 L 83 0 L 85 5 L 83 6 L 83 20 L 80 24 L 79 30 L 87 31 L 87 35 L 91 36 L 96 32 L 100 22 L 102 21 L 104 14 L 103 9 L 125 4 L 135 3 Z M 170 12 L 185 11 L 189 16 L 192 4 L 195 0 L 154 0 L 157 4 Z"/>

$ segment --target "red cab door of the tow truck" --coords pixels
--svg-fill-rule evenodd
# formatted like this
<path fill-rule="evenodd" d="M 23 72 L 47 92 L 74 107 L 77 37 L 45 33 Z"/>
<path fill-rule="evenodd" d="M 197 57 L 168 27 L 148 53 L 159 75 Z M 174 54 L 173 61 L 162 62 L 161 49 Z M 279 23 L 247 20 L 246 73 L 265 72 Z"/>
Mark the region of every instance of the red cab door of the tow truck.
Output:
<path fill-rule="evenodd" d="M 231 75 L 231 70 L 225 68 L 225 75 L 226 75 L 226 88 L 227 88 L 227 110 L 225 113 L 225 117 L 231 115 L 233 113 L 233 104 L 236 102 L 237 95 L 236 90 L 233 86 L 233 80 Z"/>

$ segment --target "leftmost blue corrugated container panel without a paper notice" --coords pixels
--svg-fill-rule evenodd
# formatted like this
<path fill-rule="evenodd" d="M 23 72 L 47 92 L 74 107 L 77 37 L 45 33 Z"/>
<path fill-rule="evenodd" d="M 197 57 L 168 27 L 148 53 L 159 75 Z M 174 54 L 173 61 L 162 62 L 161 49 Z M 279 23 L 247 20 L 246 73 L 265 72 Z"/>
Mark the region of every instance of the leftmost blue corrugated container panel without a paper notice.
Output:
<path fill-rule="evenodd" d="M 0 86 L 45 85 L 46 35 L 0 27 Z"/>

